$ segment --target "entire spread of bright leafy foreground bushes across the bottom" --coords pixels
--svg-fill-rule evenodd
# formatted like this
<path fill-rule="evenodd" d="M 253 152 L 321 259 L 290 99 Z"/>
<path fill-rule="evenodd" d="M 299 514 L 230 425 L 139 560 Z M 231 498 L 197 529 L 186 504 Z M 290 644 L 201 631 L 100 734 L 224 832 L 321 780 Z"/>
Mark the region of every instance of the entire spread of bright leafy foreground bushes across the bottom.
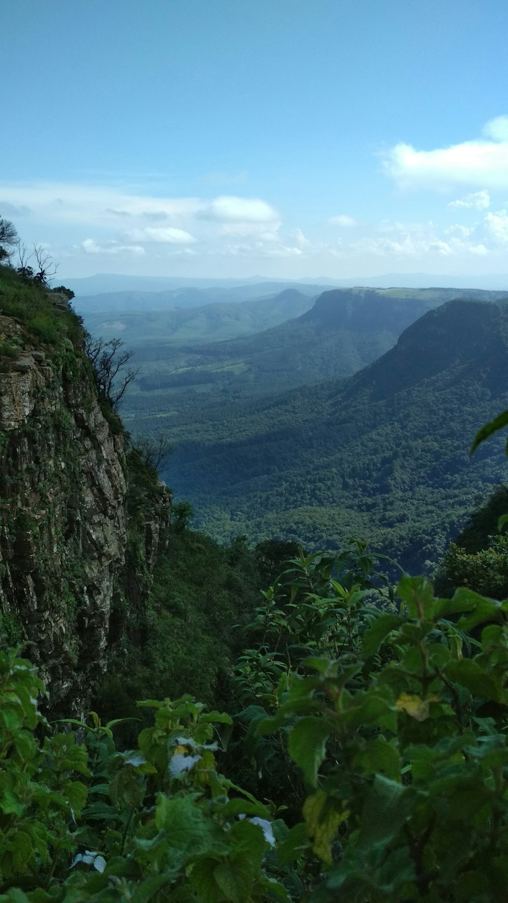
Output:
<path fill-rule="evenodd" d="M 42 684 L 13 652 L 0 656 L 1 903 L 504 898 L 508 601 L 436 599 L 404 576 L 381 611 L 346 573 L 343 585 L 317 562 L 313 593 L 293 571 L 299 614 L 277 618 L 314 604 L 315 655 L 296 650 L 288 667 L 295 644 L 277 655 L 268 640 L 290 640 L 290 623 L 265 630 L 265 677 L 245 693 L 255 767 L 260 739 L 261 772 L 270 743 L 278 767 L 296 769 L 296 824 L 218 771 L 228 715 L 185 696 L 148 701 L 155 725 L 138 749 L 118 752 L 114 723 L 93 713 L 92 726 L 74 722 L 79 743 L 49 731 Z"/>

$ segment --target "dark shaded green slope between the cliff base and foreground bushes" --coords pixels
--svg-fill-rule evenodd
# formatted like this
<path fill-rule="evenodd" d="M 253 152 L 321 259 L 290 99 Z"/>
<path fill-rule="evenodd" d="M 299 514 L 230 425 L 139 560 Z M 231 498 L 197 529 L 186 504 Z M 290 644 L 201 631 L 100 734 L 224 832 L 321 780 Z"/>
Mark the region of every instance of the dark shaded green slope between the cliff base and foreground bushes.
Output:
<path fill-rule="evenodd" d="M 251 617 L 261 583 L 257 550 L 229 547 L 172 524 L 160 537 L 146 610 L 122 614 L 123 638 L 112 651 L 94 707 L 106 717 L 133 716 L 136 699 L 190 692 L 211 705 L 230 704 L 228 676 L 240 651 L 236 625 Z M 127 561 L 131 587 L 143 562 Z M 132 724 L 121 729 L 134 742 Z"/>

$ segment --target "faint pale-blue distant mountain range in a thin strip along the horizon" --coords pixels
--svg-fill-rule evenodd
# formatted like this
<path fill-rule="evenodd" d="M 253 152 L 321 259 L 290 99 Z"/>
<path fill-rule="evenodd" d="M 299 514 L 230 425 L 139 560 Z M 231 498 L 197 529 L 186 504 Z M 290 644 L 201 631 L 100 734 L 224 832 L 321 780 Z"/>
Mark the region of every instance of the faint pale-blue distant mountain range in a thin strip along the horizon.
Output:
<path fill-rule="evenodd" d="M 309 277 L 303 279 L 274 279 L 266 276 L 250 276 L 244 279 L 194 279 L 180 276 L 141 276 L 120 275 L 115 273 L 98 273 L 92 276 L 59 276 L 59 281 L 67 285 L 77 297 L 119 292 L 161 292 L 178 288 L 197 289 L 235 289 L 252 288 L 250 298 L 272 292 L 280 292 L 284 288 L 295 287 L 306 291 L 306 285 L 317 285 L 323 291 L 343 286 L 351 288 L 356 285 L 371 288 L 479 288 L 500 289 L 508 291 L 508 275 L 437 275 L 430 273 L 386 273 L 376 276 L 355 276 L 351 279 L 336 279 L 328 276 Z M 266 286 L 269 286 L 268 288 Z M 260 290 L 259 290 L 260 286 Z M 221 301 L 221 298 L 211 300 Z M 202 303 L 202 302 L 201 302 Z"/>

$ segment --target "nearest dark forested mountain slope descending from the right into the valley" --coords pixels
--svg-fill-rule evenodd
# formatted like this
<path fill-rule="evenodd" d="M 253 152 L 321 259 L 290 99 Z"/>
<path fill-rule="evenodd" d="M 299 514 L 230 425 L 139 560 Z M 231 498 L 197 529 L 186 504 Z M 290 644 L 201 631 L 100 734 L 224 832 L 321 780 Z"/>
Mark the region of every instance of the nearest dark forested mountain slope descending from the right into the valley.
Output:
<path fill-rule="evenodd" d="M 343 381 L 208 412 L 221 442 L 182 442 L 168 479 L 216 536 L 284 535 L 309 546 L 370 538 L 421 568 L 478 495 L 506 476 L 501 441 L 470 459 L 508 401 L 508 306 L 452 301 Z"/>

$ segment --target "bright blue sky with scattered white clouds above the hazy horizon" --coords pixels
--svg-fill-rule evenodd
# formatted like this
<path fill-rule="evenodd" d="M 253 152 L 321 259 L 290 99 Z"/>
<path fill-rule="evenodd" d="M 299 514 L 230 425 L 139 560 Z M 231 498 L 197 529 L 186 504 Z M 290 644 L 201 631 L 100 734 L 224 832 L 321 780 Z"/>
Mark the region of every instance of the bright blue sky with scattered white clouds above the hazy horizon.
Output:
<path fill-rule="evenodd" d="M 508 273 L 506 0 L 16 0 L 0 216 L 59 275 Z"/>

